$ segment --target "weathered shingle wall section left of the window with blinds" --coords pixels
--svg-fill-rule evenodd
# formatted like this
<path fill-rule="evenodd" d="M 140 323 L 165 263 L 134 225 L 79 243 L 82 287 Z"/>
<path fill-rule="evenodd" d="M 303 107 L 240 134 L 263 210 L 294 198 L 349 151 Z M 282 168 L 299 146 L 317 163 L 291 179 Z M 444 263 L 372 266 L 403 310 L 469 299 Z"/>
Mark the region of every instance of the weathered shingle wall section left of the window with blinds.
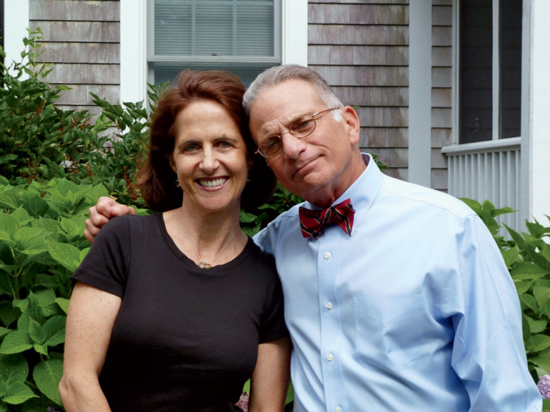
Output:
<path fill-rule="evenodd" d="M 98 113 L 90 92 L 118 103 L 120 95 L 120 2 L 111 0 L 30 0 L 31 29 L 40 41 L 46 81 L 71 87 L 58 104 L 63 109 Z"/>

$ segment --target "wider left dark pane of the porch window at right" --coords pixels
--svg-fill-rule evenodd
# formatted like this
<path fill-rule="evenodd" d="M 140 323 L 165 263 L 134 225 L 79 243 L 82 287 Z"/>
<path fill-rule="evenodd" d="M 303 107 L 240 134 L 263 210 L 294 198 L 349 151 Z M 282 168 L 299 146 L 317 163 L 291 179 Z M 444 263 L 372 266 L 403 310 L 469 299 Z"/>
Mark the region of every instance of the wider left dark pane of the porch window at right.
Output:
<path fill-rule="evenodd" d="M 491 0 L 460 1 L 460 143 L 492 139 Z"/>

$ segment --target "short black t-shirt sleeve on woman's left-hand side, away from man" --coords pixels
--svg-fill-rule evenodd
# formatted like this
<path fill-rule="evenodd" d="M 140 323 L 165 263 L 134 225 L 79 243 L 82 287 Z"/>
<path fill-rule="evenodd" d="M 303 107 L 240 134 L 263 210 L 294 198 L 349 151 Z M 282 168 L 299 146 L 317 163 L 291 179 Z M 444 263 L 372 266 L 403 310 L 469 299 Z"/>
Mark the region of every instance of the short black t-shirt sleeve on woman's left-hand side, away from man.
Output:
<path fill-rule="evenodd" d="M 130 218 L 133 216 L 114 218 L 99 231 L 92 248 L 73 273 L 73 281 L 123 297 L 130 261 Z"/>

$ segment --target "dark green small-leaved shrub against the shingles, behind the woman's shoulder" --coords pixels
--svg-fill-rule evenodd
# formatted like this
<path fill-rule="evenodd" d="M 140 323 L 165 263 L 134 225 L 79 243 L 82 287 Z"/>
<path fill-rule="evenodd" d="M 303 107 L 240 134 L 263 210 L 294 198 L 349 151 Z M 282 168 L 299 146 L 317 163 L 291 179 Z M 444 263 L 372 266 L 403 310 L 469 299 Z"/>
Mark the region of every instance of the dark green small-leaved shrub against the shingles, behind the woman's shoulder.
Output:
<path fill-rule="evenodd" d="M 37 61 L 41 34 L 29 30 L 20 63 L 0 63 L 0 175 L 13 185 L 56 177 L 102 183 L 119 201 L 141 206 L 135 172 L 147 144 L 149 112 L 144 103 L 109 104 L 92 94 L 102 108 L 93 124 L 88 111 L 57 108 L 61 92 L 69 87 L 52 88 L 43 81 L 51 68 Z M 1 48 L 0 54 L 5 57 Z M 165 86 L 149 85 L 150 107 Z"/>

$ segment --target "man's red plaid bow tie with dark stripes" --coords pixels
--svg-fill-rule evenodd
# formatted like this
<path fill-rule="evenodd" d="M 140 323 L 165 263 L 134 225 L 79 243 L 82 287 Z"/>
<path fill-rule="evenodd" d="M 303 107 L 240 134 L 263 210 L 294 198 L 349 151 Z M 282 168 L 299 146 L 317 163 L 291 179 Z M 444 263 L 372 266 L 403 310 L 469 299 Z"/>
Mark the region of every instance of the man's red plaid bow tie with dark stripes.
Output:
<path fill-rule="evenodd" d="M 342 203 L 314 211 L 300 207 L 300 229 L 304 237 L 312 236 L 317 239 L 324 230 L 326 225 L 336 223 L 344 232 L 351 235 L 353 227 L 353 207 L 350 199 L 346 199 Z"/>

